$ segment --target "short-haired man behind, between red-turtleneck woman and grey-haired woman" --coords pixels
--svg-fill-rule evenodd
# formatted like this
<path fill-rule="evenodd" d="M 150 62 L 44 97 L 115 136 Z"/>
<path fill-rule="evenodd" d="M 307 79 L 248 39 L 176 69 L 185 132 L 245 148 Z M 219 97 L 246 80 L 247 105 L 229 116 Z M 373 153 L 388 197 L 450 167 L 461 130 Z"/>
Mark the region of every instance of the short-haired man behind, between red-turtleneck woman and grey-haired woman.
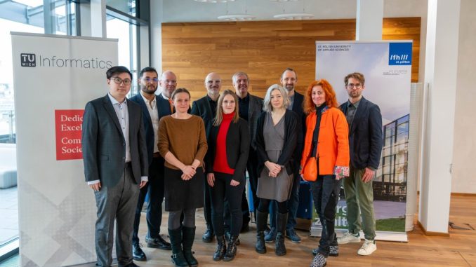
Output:
<path fill-rule="evenodd" d="M 258 188 L 258 155 L 256 153 L 256 122 L 261 112 L 263 112 L 263 99 L 255 95 L 251 95 L 248 92 L 249 89 L 249 77 L 244 72 L 237 72 L 232 76 L 232 83 L 234 92 L 238 96 L 239 116 L 245 121 L 248 121 L 249 136 L 250 136 L 250 150 L 248 156 L 248 162 L 246 163 L 246 170 L 249 174 L 249 183 L 251 187 L 251 193 L 253 196 L 253 207 L 258 208 L 260 203 L 256 196 L 256 190 Z M 249 230 L 249 206 L 246 201 L 246 193 L 243 191 L 242 197 L 242 212 L 243 212 L 243 226 L 242 232 Z M 256 212 L 254 212 L 256 217 Z M 255 218 L 256 221 L 256 218 Z"/>

